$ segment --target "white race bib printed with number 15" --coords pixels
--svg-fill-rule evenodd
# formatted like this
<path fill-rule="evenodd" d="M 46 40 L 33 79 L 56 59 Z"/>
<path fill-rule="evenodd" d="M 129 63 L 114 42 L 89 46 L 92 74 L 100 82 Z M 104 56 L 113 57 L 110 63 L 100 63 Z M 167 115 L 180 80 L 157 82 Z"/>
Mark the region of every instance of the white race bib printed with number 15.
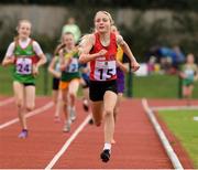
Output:
<path fill-rule="evenodd" d="M 95 79 L 111 79 L 116 73 L 116 61 L 96 61 Z"/>

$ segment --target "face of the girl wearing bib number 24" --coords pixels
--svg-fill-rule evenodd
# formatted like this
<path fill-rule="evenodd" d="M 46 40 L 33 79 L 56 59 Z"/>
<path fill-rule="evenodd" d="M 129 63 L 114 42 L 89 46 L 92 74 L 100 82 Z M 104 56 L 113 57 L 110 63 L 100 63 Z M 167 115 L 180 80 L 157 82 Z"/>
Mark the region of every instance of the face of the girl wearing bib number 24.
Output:
<path fill-rule="evenodd" d="M 20 39 L 28 39 L 31 34 L 31 23 L 21 22 L 18 28 L 18 33 Z"/>

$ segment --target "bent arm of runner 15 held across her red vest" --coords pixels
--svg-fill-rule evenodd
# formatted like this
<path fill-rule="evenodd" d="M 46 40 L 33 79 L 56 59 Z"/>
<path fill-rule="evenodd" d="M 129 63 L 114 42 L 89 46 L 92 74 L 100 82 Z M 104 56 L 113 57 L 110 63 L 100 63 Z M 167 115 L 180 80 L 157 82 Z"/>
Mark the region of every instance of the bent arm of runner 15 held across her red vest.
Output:
<path fill-rule="evenodd" d="M 95 44 L 95 35 L 85 35 L 79 44 L 79 63 L 85 64 L 107 53 L 106 50 L 101 50 L 98 53 L 89 54 Z"/>

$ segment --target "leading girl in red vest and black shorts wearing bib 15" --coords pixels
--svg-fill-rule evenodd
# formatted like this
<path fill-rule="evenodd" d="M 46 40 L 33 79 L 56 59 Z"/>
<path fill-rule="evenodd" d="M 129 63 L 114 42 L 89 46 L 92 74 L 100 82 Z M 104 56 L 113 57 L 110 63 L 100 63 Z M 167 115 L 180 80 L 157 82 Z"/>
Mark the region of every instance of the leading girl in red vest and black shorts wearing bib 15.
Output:
<path fill-rule="evenodd" d="M 106 11 L 97 12 L 95 15 L 96 32 L 86 35 L 79 49 L 79 62 L 90 62 L 89 97 L 94 121 L 96 126 L 100 126 L 102 117 L 105 120 L 105 146 L 100 155 L 103 162 L 110 159 L 111 140 L 114 132 L 113 110 L 117 104 L 117 45 L 120 45 L 130 57 L 133 71 L 140 67 L 122 36 L 111 32 L 112 24 L 113 21 L 110 13 Z"/>

